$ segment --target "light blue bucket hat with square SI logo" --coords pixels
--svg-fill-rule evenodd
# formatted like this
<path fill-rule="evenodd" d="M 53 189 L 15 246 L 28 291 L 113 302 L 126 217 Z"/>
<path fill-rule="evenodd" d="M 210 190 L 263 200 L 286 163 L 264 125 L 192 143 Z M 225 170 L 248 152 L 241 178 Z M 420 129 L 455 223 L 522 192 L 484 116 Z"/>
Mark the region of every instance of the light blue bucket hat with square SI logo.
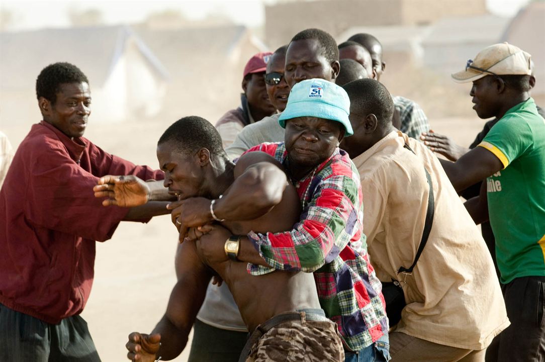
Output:
<path fill-rule="evenodd" d="M 289 92 L 288 104 L 278 118 L 278 124 L 286 128 L 287 119 L 324 118 L 341 123 L 346 130 L 344 136 L 352 136 L 349 113 L 350 99 L 344 89 L 323 79 L 307 79 L 296 83 Z"/>

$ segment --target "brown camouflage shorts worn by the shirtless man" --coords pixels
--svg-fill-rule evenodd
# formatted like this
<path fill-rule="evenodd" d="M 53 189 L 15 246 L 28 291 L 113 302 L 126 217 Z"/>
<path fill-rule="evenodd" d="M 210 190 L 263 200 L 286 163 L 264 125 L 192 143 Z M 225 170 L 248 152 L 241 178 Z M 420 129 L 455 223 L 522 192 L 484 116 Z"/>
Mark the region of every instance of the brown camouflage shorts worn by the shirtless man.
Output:
<path fill-rule="evenodd" d="M 246 362 L 343 362 L 337 325 L 304 318 L 269 329 L 250 349 Z"/>

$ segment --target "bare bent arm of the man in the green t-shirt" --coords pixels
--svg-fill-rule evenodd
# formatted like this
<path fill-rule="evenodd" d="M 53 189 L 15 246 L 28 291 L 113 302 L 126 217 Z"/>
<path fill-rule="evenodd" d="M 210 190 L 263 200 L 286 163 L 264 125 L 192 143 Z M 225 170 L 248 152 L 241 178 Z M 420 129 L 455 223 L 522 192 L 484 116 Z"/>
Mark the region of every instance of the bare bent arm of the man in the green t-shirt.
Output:
<path fill-rule="evenodd" d="M 456 162 L 443 159 L 440 162 L 457 192 L 504 168 L 500 159 L 483 147 L 475 147 Z"/>

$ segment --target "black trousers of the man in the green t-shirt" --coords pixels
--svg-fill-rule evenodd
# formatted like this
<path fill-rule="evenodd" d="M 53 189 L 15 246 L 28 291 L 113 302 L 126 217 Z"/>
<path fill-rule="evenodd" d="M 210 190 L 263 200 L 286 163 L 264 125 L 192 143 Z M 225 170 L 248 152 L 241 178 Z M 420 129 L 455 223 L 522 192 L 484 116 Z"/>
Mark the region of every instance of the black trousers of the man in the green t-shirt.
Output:
<path fill-rule="evenodd" d="M 545 362 L 545 277 L 520 277 L 501 290 L 511 325 L 494 338 L 486 361 Z"/>

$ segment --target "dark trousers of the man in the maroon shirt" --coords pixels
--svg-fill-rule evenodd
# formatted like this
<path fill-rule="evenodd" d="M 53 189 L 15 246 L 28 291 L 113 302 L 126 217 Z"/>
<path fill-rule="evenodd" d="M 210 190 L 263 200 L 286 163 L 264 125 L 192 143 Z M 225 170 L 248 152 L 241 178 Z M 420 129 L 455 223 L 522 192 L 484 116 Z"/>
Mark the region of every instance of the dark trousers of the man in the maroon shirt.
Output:
<path fill-rule="evenodd" d="M 80 316 L 49 324 L 0 304 L 0 361 L 100 362 Z"/>

